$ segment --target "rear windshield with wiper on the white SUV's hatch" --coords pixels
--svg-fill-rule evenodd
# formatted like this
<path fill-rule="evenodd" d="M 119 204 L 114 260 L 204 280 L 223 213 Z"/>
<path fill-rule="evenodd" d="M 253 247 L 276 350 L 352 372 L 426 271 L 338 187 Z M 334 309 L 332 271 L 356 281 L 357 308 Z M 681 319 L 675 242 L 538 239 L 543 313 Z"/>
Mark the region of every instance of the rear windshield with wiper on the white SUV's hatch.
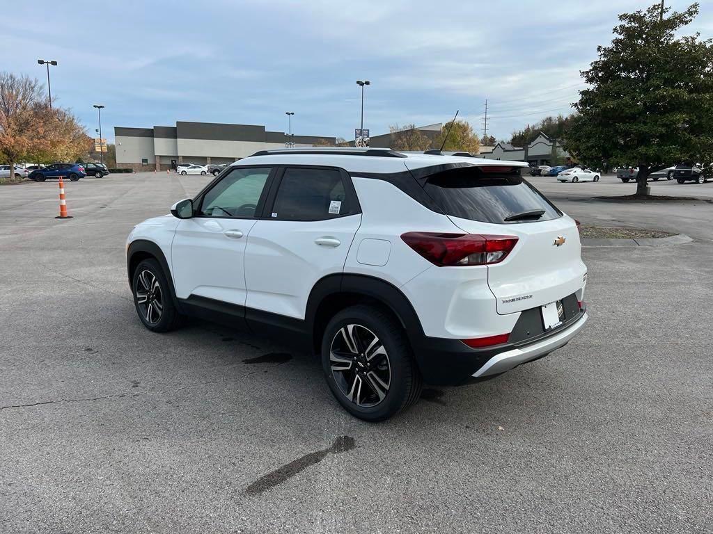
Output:
<path fill-rule="evenodd" d="M 483 172 L 478 167 L 460 167 L 432 174 L 424 189 L 446 214 L 488 223 L 549 221 L 562 216 L 554 204 L 523 179 L 520 167 L 501 172 Z M 543 211 L 515 217 L 527 211 Z"/>

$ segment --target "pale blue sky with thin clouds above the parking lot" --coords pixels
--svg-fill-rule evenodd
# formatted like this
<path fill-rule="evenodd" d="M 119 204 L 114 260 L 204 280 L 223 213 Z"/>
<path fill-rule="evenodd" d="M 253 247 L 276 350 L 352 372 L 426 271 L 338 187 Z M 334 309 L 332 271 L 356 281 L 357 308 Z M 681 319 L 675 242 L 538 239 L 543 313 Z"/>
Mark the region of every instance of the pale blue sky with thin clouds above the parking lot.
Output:
<path fill-rule="evenodd" d="M 446 122 L 481 135 L 567 113 L 621 12 L 653 0 L 2 0 L 0 70 L 46 83 L 94 135 L 178 120 L 354 138 Z M 684 9 L 689 2 L 666 0 Z M 689 26 L 713 36 L 713 1 Z M 7 21 L 14 21 L 7 23 Z"/>

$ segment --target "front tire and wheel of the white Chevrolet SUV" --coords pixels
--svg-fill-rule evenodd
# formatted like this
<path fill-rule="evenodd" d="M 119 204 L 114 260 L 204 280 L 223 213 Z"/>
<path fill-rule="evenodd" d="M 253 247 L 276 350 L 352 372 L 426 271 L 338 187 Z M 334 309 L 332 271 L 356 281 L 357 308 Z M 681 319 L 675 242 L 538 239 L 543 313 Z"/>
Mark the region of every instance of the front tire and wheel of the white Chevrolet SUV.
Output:
<path fill-rule="evenodd" d="M 149 258 L 136 266 L 131 280 L 131 292 L 136 313 L 148 330 L 168 332 L 178 326 L 180 315 L 158 261 Z"/>

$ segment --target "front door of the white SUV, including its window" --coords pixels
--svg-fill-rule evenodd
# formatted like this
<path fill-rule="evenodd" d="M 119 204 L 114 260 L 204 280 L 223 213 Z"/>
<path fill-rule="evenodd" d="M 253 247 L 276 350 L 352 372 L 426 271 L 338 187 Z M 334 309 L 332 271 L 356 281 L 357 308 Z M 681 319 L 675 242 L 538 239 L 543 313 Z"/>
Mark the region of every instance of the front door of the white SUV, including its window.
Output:
<path fill-rule="evenodd" d="M 245 305 L 243 258 L 247 234 L 267 195 L 272 168 L 234 167 L 194 201 L 171 246 L 176 296 Z"/>

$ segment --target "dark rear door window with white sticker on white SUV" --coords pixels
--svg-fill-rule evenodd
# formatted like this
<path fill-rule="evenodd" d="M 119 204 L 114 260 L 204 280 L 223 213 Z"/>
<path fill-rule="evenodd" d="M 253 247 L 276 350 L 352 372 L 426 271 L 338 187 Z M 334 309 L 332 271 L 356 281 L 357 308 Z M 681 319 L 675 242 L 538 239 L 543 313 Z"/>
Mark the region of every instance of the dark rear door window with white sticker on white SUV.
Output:
<path fill-rule="evenodd" d="M 272 217 L 282 221 L 322 221 L 356 213 L 337 169 L 287 168 L 277 190 Z"/>

